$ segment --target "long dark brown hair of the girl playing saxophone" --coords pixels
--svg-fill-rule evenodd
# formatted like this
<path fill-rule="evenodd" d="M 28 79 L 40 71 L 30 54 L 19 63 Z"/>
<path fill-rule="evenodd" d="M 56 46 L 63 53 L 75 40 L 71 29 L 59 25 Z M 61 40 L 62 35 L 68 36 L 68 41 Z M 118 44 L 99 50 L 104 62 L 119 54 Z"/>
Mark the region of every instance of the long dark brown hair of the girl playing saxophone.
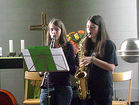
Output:
<path fill-rule="evenodd" d="M 89 55 L 93 47 L 93 52 L 96 54 L 96 57 L 102 58 L 104 55 L 104 48 L 106 40 L 109 40 L 108 33 L 104 21 L 100 15 L 90 16 L 87 21 L 92 22 L 93 24 L 98 25 L 98 34 L 96 42 L 92 42 L 90 38 L 87 38 L 85 41 L 85 54 Z"/>

